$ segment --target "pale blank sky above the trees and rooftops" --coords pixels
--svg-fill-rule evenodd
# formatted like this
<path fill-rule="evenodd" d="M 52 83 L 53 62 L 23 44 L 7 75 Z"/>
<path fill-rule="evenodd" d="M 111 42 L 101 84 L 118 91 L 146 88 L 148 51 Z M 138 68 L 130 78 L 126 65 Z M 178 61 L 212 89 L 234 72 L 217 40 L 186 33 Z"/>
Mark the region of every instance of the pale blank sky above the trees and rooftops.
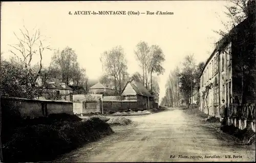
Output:
<path fill-rule="evenodd" d="M 90 79 L 102 74 L 101 53 L 120 45 L 124 48 L 130 74 L 141 69 L 134 50 L 140 41 L 159 45 L 165 55 L 160 75 L 160 99 L 170 70 L 181 65 L 186 55 L 194 53 L 197 63 L 206 61 L 223 29 L 227 1 L 118 1 L 118 2 L 3 2 L 1 10 L 1 52 L 8 58 L 8 44 L 17 43 L 14 32 L 40 29 L 45 44 L 54 49 L 66 46 L 75 50 L 81 67 Z M 174 12 L 173 15 L 69 15 L 75 11 Z M 43 54 L 49 65 L 53 51 Z M 38 56 L 33 58 L 33 63 Z"/>

